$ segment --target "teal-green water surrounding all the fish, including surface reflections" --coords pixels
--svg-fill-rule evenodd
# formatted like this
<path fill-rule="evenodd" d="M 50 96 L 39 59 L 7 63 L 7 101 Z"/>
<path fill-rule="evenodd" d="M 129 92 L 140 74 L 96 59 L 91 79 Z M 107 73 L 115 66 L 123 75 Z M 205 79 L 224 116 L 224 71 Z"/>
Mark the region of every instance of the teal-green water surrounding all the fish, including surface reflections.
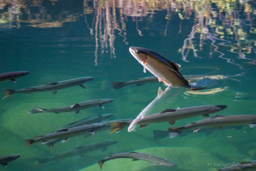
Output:
<path fill-rule="evenodd" d="M 206 3 L 207 2 L 207 3 Z M 204 5 L 202 5 L 204 4 Z M 113 7 L 114 6 L 114 7 Z M 177 167 L 155 166 L 146 161 L 115 159 L 102 170 L 216 170 L 228 163 L 256 158 L 255 128 L 217 129 L 206 136 L 153 139 L 152 130 L 167 130 L 168 122 L 148 125 L 134 132 L 97 132 L 57 143 L 52 153 L 44 144 L 26 148 L 24 139 L 54 131 L 81 118 L 115 113 L 109 119 L 135 118 L 157 95 L 163 84 L 147 83 L 113 89 L 112 81 L 151 76 L 129 53 L 129 46 L 149 48 L 181 64 L 184 75 L 225 75 L 204 80 L 209 88 L 225 88 L 205 95 L 187 95 L 175 90 L 154 108 L 224 104 L 216 114 L 255 113 L 255 3 L 253 1 L 143 0 L 39 0 L 0 2 L 0 73 L 27 70 L 29 74 L 0 82 L 0 88 L 19 89 L 81 76 L 93 76 L 86 89 L 74 86 L 29 95 L 13 94 L 0 100 L 0 155 L 20 154 L 0 170 L 100 170 L 96 161 L 113 153 L 140 151 L 167 158 Z M 236 76 L 234 76 L 236 75 Z M 207 82 L 208 81 L 208 82 Z M 79 114 L 28 114 L 34 105 L 53 108 L 97 98 L 114 101 L 81 110 Z M 202 116 L 177 120 L 182 126 Z M 38 165 L 35 158 L 50 157 L 76 146 L 118 140 L 106 151 L 90 152 L 62 161 Z"/>

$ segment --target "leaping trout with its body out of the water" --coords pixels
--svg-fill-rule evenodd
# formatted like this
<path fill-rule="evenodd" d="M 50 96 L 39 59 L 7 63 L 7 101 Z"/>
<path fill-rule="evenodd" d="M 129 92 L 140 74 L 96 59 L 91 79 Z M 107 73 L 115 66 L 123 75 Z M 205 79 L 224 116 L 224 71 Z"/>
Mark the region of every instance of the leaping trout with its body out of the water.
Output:
<path fill-rule="evenodd" d="M 180 64 L 172 62 L 161 56 L 160 54 L 142 47 L 130 47 L 130 53 L 144 67 L 155 75 L 159 81 L 162 81 L 166 86 L 187 87 L 194 89 L 179 72 Z M 198 87 L 199 88 L 199 87 Z"/>

